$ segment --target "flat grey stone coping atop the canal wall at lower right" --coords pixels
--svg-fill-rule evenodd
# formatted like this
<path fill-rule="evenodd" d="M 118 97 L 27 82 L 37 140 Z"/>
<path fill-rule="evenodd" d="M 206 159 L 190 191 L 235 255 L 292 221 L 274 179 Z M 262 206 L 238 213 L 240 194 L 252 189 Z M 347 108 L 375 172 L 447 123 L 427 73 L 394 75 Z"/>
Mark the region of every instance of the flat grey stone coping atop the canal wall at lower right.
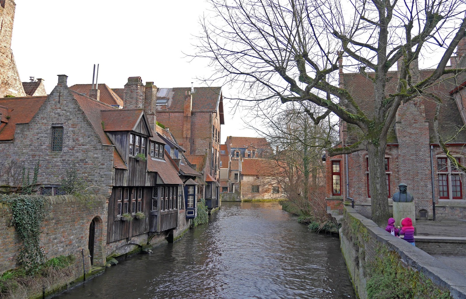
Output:
<path fill-rule="evenodd" d="M 434 284 L 449 290 L 453 298 L 466 299 L 466 279 L 462 275 L 452 271 L 450 267 L 427 252 L 392 236 L 372 220 L 357 213 L 355 209 L 349 206 L 345 206 L 344 209 L 349 217 L 356 218 L 366 227 L 372 238 L 386 245 L 390 250 L 396 251 L 408 266 L 422 272 Z"/>

